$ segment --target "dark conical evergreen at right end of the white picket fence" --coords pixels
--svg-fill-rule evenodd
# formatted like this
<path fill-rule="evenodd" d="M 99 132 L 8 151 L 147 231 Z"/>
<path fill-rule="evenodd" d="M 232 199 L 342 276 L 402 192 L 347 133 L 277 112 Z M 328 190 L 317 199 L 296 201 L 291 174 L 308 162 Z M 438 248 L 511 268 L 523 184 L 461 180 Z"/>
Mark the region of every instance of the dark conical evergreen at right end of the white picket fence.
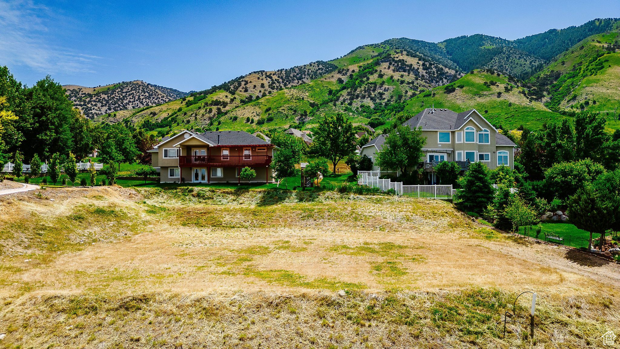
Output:
<path fill-rule="evenodd" d="M 457 205 L 463 211 L 480 214 L 493 202 L 495 189 L 490 181 L 489 168 L 484 163 L 477 161 L 469 165 L 459 184 L 461 190 L 456 194 L 459 200 Z"/>

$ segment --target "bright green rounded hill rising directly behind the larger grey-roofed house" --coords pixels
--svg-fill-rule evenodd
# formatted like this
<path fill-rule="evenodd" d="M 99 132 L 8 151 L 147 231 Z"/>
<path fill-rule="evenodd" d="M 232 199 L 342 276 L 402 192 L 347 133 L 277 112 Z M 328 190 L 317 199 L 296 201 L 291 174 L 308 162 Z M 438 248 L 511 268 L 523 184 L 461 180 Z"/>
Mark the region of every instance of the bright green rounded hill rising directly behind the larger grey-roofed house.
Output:
<path fill-rule="evenodd" d="M 454 88 L 453 92 L 449 92 L 451 87 Z M 528 99 L 522 94 L 524 91 L 516 87 L 516 81 L 508 76 L 476 70 L 454 83 L 409 99 L 403 115 L 414 116 L 433 104 L 435 108 L 456 112 L 476 109 L 492 124 L 508 129 L 516 129 L 521 125 L 535 129 L 544 122 L 564 118 L 547 109 L 542 102 Z M 500 96 L 498 93 L 501 93 Z"/>

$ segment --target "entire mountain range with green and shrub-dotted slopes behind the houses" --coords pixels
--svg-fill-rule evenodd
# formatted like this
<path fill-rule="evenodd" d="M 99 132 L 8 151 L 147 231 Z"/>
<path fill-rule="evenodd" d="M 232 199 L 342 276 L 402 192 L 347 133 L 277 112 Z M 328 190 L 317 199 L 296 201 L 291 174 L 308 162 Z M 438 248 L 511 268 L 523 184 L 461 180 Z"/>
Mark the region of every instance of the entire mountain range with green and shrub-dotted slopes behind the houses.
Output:
<path fill-rule="evenodd" d="M 593 110 L 606 112 L 614 129 L 620 128 L 611 120 L 620 101 L 619 26 L 618 19 L 595 19 L 518 40 L 482 34 L 439 43 L 389 39 L 335 60 L 255 71 L 188 94 L 165 94 L 139 82 L 152 86 L 159 99 L 143 92 L 141 99 L 128 94 L 124 102 L 118 90 L 117 103 L 106 105 L 104 94 L 110 93 L 102 88 L 113 91 L 116 84 L 90 95 L 82 89 L 81 99 L 79 93 L 74 99 L 73 88 L 68 93 L 89 116 L 100 113 L 95 120 L 126 120 L 160 135 L 178 129 L 310 129 L 338 112 L 381 129 L 433 104 L 454 111 L 474 107 L 509 129 Z"/>

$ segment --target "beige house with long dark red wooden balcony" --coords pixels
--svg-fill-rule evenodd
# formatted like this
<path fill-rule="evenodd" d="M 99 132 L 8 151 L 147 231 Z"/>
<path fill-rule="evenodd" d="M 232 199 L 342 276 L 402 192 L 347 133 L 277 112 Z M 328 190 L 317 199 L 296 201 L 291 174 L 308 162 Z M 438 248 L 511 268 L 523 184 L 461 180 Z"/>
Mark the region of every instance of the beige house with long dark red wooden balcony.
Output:
<path fill-rule="evenodd" d="M 244 131 L 182 131 L 164 137 L 151 153 L 162 183 L 240 183 L 244 167 L 256 171 L 252 183 L 272 183 L 269 167 L 275 145 Z"/>

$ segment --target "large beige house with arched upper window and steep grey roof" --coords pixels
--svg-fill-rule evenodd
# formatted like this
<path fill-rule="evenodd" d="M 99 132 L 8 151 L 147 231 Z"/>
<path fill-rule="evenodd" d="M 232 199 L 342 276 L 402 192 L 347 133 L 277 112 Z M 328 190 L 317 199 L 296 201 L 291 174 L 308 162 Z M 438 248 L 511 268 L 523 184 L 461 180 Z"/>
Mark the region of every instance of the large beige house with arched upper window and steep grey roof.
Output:
<path fill-rule="evenodd" d="M 474 161 L 482 161 L 491 169 L 497 166 L 515 168 L 516 144 L 499 134 L 476 109 L 458 113 L 449 109 L 427 108 L 403 125 L 412 129 L 420 127 L 422 137 L 427 138 L 420 163 L 426 171 L 428 184 L 438 184 L 434 168 L 441 161 L 457 161 L 461 170 L 466 170 Z M 379 135 L 368 142 L 362 147 L 360 155 L 373 158 L 374 163 L 376 152 L 383 147 L 386 137 Z M 373 170 L 381 169 L 373 165 Z"/>

